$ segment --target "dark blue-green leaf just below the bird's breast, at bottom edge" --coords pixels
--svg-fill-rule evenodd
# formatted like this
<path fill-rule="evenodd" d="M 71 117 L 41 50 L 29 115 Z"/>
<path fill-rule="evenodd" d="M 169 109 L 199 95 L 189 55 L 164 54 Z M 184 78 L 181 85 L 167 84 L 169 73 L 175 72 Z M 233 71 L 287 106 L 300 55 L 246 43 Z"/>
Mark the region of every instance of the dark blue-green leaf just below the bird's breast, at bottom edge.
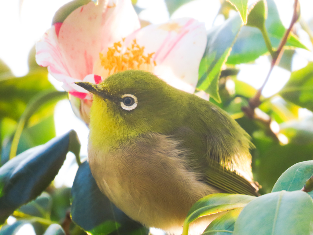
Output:
<path fill-rule="evenodd" d="M 72 191 L 71 217 L 89 234 L 144 235 L 149 230 L 131 220 L 101 193 L 87 161 L 76 173 Z"/>

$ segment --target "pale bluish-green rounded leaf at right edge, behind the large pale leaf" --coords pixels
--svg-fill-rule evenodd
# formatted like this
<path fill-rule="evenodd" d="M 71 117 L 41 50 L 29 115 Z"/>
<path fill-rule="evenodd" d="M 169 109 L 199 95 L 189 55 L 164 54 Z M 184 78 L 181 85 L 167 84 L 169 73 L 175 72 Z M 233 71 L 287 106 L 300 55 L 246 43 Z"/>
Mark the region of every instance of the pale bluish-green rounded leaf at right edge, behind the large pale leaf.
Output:
<path fill-rule="evenodd" d="M 313 175 L 313 161 L 299 162 L 288 168 L 276 181 L 272 192 L 282 190 L 296 191 L 302 189 L 308 180 Z M 309 192 L 313 196 L 313 191 Z"/>

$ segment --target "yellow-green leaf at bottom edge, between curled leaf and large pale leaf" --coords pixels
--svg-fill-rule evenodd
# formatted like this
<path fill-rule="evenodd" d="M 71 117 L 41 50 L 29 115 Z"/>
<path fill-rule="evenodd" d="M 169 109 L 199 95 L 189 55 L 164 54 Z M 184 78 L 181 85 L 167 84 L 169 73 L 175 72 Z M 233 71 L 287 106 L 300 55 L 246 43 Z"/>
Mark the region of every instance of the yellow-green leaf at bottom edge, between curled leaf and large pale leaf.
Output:
<path fill-rule="evenodd" d="M 234 209 L 217 217 L 204 230 L 202 235 L 231 235 L 234 230 L 234 224 L 242 209 Z"/>

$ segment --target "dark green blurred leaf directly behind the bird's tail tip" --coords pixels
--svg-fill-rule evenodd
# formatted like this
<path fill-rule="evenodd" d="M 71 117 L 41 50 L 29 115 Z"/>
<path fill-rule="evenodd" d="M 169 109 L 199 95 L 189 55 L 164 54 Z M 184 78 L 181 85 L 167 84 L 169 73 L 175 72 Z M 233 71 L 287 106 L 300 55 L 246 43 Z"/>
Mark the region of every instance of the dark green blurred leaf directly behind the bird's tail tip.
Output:
<path fill-rule="evenodd" d="M 254 166 L 254 180 L 262 185 L 264 193 L 269 193 L 276 180 L 290 166 L 297 162 L 312 160 L 313 144 L 280 145 L 260 133 L 262 132 L 253 134 L 253 144 L 257 152 L 257 156 L 254 156 L 254 161 L 257 161 Z"/>

